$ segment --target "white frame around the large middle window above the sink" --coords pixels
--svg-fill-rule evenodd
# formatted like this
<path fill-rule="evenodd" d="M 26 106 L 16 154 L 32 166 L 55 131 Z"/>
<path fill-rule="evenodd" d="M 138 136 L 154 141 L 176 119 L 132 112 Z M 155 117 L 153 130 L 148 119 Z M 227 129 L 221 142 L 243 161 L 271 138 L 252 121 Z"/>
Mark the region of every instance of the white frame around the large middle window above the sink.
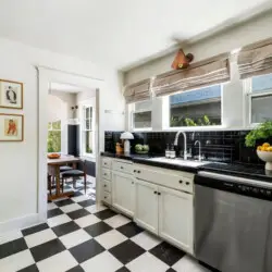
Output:
<path fill-rule="evenodd" d="M 212 131 L 212 129 L 220 129 L 220 128 L 223 128 L 224 127 L 224 124 L 223 124 L 223 99 L 224 99 L 224 96 L 223 96 L 223 89 L 224 89 L 224 84 L 217 84 L 217 85 L 220 85 L 221 86 L 221 90 L 220 90 L 220 97 L 221 97 L 221 125 L 203 125 L 203 126 L 170 126 L 170 111 L 171 111 L 171 106 L 170 106 L 170 97 L 173 96 L 173 95 L 169 95 L 166 97 L 164 97 L 164 111 L 166 110 L 166 114 L 165 115 L 165 119 L 163 120 L 163 123 L 164 123 L 164 126 L 163 126 L 163 131 Z M 210 85 L 210 86 L 213 86 L 213 85 Z M 203 87 L 206 88 L 206 87 Z M 202 88 L 199 88 L 199 89 L 202 89 Z M 187 91 L 195 91 L 196 89 L 191 89 L 191 90 L 187 90 Z M 181 92 L 180 92 L 181 94 Z M 174 94 L 174 95 L 178 95 L 178 92 Z M 168 119 L 168 120 L 166 120 Z"/>

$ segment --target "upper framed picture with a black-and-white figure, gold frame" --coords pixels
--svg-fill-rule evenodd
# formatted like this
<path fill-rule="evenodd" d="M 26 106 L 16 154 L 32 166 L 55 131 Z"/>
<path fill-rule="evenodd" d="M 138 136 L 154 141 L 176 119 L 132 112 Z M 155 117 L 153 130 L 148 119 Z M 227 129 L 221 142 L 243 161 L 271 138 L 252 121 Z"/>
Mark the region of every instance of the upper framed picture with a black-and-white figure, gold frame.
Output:
<path fill-rule="evenodd" d="M 0 79 L 0 108 L 23 109 L 23 83 Z"/>

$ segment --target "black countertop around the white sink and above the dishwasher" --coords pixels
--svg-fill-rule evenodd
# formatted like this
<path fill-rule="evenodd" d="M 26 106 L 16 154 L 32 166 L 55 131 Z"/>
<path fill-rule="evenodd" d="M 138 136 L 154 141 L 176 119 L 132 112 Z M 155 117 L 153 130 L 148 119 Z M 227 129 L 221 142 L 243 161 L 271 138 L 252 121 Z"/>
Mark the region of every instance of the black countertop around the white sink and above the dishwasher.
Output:
<path fill-rule="evenodd" d="M 219 174 L 226 174 L 232 176 L 240 176 L 245 178 L 252 178 L 257 181 L 264 181 L 272 183 L 272 171 L 264 169 L 264 165 L 244 164 L 244 163 L 208 163 L 198 168 L 176 165 L 170 163 L 163 163 L 158 161 L 148 160 L 156 156 L 150 154 L 115 154 L 110 152 L 101 152 L 101 156 L 118 158 L 123 160 L 131 160 L 135 163 L 147 164 L 151 166 L 165 168 L 178 171 L 186 171 L 190 173 L 197 173 L 198 171 L 209 171 Z M 158 157 L 158 156 L 157 156 Z M 162 156 L 161 156 L 162 157 Z"/>

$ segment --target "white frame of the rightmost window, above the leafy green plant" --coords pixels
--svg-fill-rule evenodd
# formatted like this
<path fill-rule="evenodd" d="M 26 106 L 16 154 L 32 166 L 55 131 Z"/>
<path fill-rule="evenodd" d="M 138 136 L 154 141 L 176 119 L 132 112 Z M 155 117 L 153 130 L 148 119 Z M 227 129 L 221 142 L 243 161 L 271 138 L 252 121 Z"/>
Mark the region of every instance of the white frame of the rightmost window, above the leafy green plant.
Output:
<path fill-rule="evenodd" d="M 248 106 L 246 108 L 247 126 L 250 128 L 254 128 L 258 126 L 260 123 L 252 123 L 252 98 L 264 97 L 268 95 L 272 96 L 272 88 L 254 91 L 252 90 L 252 77 L 244 79 L 243 87 L 244 87 L 244 92 L 246 96 L 246 99 L 245 99 L 246 104 Z"/>

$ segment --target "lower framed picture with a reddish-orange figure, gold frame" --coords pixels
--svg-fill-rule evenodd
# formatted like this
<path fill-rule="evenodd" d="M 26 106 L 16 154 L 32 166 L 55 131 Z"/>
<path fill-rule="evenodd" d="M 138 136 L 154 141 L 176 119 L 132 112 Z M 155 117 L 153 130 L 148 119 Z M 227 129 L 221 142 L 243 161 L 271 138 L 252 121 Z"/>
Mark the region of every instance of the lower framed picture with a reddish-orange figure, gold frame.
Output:
<path fill-rule="evenodd" d="M 0 141 L 23 141 L 24 116 L 0 113 Z"/>

